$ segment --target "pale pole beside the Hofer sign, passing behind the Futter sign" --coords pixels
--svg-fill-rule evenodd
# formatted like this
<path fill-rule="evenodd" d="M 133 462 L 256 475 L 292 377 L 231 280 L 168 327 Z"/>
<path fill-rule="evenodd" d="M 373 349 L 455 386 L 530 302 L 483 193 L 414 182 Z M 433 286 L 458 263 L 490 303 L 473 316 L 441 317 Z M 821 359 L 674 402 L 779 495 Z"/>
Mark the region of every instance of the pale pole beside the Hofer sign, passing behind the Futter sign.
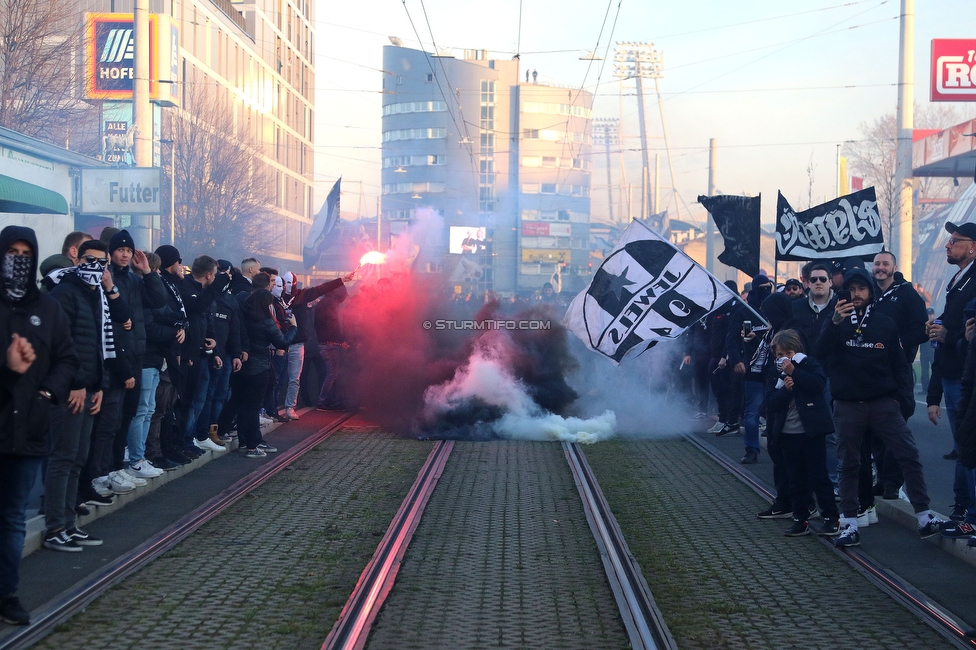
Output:
<path fill-rule="evenodd" d="M 136 167 L 153 166 L 152 104 L 149 102 L 149 0 L 135 0 L 135 78 L 132 83 L 132 118 L 135 122 Z M 151 215 L 133 215 L 132 239 L 136 246 L 152 249 Z"/>

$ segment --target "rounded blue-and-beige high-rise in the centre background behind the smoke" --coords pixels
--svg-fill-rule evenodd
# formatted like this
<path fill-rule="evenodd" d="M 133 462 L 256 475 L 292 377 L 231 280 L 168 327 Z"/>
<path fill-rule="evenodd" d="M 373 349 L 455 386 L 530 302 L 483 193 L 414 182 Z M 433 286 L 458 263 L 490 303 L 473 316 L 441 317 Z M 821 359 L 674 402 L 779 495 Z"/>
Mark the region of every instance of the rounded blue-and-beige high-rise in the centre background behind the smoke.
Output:
<path fill-rule="evenodd" d="M 419 242 L 422 270 L 501 294 L 557 265 L 588 273 L 591 93 L 523 82 L 485 50 L 387 46 L 383 70 L 383 219 L 395 234 L 426 208 L 445 224 Z M 460 248 L 479 231 L 486 243 Z"/>

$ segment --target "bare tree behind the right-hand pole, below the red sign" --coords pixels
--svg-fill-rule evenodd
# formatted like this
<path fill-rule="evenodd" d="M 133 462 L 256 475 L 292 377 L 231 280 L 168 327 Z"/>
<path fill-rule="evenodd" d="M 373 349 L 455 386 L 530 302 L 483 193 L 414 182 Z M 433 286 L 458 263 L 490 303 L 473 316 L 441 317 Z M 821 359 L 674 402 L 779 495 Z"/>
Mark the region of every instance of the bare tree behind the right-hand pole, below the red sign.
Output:
<path fill-rule="evenodd" d="M 963 121 L 952 107 L 931 106 L 920 109 L 915 106 L 915 128 L 944 129 Z M 898 186 L 895 183 L 895 151 L 898 146 L 898 122 L 894 113 L 887 113 L 860 127 L 861 139 L 844 145 L 848 169 L 864 179 L 864 186 L 874 186 L 878 197 L 878 214 L 885 241 L 891 241 L 891 211 L 895 206 Z M 957 190 L 944 178 L 916 178 L 918 196 L 928 198 L 951 197 Z"/>

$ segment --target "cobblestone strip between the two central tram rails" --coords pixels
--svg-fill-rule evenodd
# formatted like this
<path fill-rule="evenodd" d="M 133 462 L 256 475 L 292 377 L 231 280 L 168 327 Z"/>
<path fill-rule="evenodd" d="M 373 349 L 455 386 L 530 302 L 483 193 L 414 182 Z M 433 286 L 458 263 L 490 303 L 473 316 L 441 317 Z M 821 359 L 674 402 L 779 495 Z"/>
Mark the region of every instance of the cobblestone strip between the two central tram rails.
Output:
<path fill-rule="evenodd" d="M 629 647 L 558 444 L 455 444 L 367 646 Z"/>

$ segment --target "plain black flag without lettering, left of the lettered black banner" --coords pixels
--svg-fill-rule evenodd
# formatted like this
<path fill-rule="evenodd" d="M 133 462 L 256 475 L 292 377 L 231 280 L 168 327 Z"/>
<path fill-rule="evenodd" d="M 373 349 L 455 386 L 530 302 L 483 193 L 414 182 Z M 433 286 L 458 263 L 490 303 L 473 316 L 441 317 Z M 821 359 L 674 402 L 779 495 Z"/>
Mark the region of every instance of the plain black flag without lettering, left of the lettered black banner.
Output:
<path fill-rule="evenodd" d="M 725 239 L 725 250 L 718 256 L 718 261 L 750 276 L 759 275 L 761 196 L 698 197 L 698 202 L 712 215 L 715 226 Z"/>

